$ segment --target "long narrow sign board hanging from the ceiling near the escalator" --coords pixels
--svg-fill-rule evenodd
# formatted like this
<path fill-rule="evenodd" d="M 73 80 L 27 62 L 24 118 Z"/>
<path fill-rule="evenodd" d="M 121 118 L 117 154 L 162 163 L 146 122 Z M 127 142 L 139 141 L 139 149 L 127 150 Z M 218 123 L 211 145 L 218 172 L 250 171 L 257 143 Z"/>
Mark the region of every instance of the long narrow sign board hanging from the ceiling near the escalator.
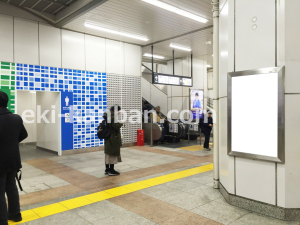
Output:
<path fill-rule="evenodd" d="M 154 73 L 153 84 L 175 85 L 192 87 L 193 82 L 191 77 L 175 76 L 169 74 Z"/>

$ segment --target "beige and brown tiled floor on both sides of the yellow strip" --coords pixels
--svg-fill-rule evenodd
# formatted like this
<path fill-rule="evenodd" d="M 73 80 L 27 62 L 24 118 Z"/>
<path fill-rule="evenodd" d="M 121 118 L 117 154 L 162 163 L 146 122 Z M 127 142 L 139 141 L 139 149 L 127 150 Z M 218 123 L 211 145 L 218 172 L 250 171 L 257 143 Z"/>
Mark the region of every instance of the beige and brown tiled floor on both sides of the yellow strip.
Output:
<path fill-rule="evenodd" d="M 42 206 L 156 177 L 173 176 L 212 163 L 212 152 L 203 150 L 188 151 L 168 145 L 130 147 L 122 149 L 123 162 L 116 165 L 121 175 L 107 177 L 103 151 L 63 157 L 28 146 L 22 146 L 22 151 L 23 160 L 25 158 L 22 179 L 25 192 L 20 197 L 22 211 L 35 211 Z M 212 171 L 199 172 L 24 224 L 299 224 L 233 207 L 212 188 L 212 182 Z"/>

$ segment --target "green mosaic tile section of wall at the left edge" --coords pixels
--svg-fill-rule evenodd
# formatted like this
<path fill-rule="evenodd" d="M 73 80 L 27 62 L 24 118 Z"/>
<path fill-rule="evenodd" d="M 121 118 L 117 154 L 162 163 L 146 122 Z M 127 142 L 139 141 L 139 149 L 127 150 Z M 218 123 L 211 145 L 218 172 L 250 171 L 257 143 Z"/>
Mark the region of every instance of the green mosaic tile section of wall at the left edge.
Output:
<path fill-rule="evenodd" d="M 15 63 L 1 62 L 0 91 L 9 97 L 7 108 L 15 113 Z"/>

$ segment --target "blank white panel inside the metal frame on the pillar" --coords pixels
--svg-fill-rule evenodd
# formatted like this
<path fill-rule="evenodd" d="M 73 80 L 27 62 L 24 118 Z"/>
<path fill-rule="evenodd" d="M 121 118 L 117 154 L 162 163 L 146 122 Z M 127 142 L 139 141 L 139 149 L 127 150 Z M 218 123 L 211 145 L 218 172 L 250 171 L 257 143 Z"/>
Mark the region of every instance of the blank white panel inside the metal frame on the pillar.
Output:
<path fill-rule="evenodd" d="M 278 157 L 278 74 L 231 79 L 231 151 Z"/>

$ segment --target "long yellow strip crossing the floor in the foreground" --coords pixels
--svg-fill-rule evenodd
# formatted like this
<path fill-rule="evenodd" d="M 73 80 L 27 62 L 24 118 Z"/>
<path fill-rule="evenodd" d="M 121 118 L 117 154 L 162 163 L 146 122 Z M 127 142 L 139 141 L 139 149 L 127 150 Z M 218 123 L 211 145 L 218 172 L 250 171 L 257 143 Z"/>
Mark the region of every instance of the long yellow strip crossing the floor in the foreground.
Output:
<path fill-rule="evenodd" d="M 135 191 L 139 191 L 145 188 L 153 187 L 159 184 L 164 184 L 170 181 L 182 179 L 185 177 L 193 176 L 199 173 L 204 173 L 213 169 L 213 164 L 208 164 L 192 169 L 171 173 L 148 180 L 139 181 L 132 184 L 123 185 L 116 188 L 111 188 L 105 191 L 84 195 L 81 197 L 69 199 L 66 201 L 30 209 L 22 212 L 23 220 L 20 223 L 9 221 L 9 224 L 21 224 L 29 221 L 37 220 L 47 216 L 55 215 L 65 211 L 69 211 L 82 206 L 87 206 L 96 202 L 100 202 L 106 199 L 114 198 L 120 195 L 125 195 Z"/>

